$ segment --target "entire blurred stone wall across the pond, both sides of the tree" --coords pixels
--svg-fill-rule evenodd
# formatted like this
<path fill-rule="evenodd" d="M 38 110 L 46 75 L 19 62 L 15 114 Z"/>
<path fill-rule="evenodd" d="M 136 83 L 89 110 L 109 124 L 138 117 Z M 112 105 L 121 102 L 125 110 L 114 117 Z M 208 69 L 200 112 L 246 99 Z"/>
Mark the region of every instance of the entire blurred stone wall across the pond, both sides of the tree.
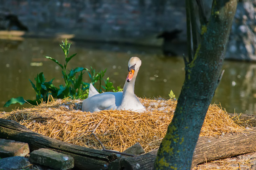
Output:
<path fill-rule="evenodd" d="M 212 0 L 203 2 L 209 13 Z M 0 4 L 0 14 L 17 15 L 34 34 L 162 45 L 157 35 L 178 30 L 176 40 L 187 41 L 184 0 L 0 0 Z M 226 58 L 256 60 L 255 4 L 256 0 L 239 1 Z"/>

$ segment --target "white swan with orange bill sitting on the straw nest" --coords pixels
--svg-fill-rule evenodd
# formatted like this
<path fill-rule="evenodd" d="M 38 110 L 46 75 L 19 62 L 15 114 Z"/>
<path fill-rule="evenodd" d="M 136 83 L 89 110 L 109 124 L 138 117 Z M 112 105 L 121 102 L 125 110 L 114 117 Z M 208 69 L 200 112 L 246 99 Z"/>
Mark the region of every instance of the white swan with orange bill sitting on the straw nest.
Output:
<path fill-rule="evenodd" d="M 141 60 L 138 57 L 131 57 L 128 62 L 128 76 L 123 86 L 123 92 L 99 93 L 90 84 L 88 98 L 82 103 L 82 111 L 96 112 L 100 110 L 130 110 L 144 112 L 146 107 L 141 104 L 134 94 L 134 85 Z"/>

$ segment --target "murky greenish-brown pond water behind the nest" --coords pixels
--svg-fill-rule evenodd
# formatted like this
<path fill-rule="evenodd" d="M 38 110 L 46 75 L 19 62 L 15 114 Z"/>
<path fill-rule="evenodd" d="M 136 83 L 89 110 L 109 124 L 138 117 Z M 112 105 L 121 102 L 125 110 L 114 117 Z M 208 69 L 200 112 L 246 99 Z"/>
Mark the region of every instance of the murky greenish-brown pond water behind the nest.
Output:
<path fill-rule="evenodd" d="M 32 38 L 0 40 L 0 111 L 23 107 L 3 107 L 11 97 L 35 99 L 36 94 L 28 79 L 34 81 L 39 72 L 44 72 L 47 81 L 55 78 L 55 85 L 63 83 L 60 68 L 51 60 L 44 58 L 47 55 L 63 63 L 60 42 Z M 185 45 L 180 47 L 186 49 Z M 130 57 L 140 57 L 142 66 L 135 84 L 135 93 L 139 97 L 167 98 L 170 90 L 178 97 L 184 81 L 182 57 L 166 57 L 160 48 L 72 42 L 70 54 L 73 53 L 77 53 L 77 56 L 69 62 L 68 69 L 92 66 L 99 71 L 107 68 L 105 78 L 110 77 L 114 87 L 123 86 Z M 238 113 L 256 114 L 256 64 L 225 61 L 223 69 L 225 73 L 212 103 L 221 103 L 228 112 L 236 110 Z M 84 74 L 83 80 L 88 82 L 89 77 Z"/>

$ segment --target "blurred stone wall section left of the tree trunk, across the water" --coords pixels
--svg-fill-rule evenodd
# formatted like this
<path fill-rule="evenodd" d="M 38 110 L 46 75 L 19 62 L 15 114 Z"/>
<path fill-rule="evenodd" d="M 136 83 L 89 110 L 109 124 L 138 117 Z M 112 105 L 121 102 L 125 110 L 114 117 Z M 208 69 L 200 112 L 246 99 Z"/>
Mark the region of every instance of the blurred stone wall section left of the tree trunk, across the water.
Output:
<path fill-rule="evenodd" d="M 0 3 L 5 13 L 18 15 L 30 31 L 36 32 L 68 32 L 108 39 L 186 29 L 184 2 L 178 0 L 0 0 Z"/>

